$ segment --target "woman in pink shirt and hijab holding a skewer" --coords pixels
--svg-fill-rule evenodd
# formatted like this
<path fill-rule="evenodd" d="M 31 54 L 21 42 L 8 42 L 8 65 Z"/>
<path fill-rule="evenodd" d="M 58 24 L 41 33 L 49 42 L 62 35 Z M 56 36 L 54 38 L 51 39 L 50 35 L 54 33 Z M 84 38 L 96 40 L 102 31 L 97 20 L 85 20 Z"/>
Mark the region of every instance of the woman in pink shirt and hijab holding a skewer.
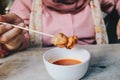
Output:
<path fill-rule="evenodd" d="M 98 12 L 98 14 L 100 12 L 98 2 L 100 1 L 103 11 L 110 13 L 113 9 L 116 9 L 120 14 L 120 0 L 93 1 L 97 1 L 97 5 L 94 3 L 90 5 L 90 0 L 15 0 L 10 13 L 0 16 L 0 20 L 11 24 L 19 24 L 20 26 L 24 26 L 23 23 L 25 23 L 27 26 L 29 25 L 30 29 L 51 35 L 58 32 L 62 32 L 67 36 L 77 35 L 79 44 L 93 44 L 96 42 L 95 32 L 100 32 L 98 29 L 95 31 L 94 26 L 96 26 L 95 23 L 97 22 L 93 20 L 95 18 L 94 12 Z M 0 28 L 1 53 L 3 56 L 8 51 L 21 50 L 29 46 L 28 32 L 9 25 L 1 25 Z M 118 27 L 118 38 L 120 37 L 119 30 Z M 32 44 L 52 45 L 50 37 L 30 34 L 32 34 Z M 101 43 L 104 42 L 105 40 L 101 41 Z"/>

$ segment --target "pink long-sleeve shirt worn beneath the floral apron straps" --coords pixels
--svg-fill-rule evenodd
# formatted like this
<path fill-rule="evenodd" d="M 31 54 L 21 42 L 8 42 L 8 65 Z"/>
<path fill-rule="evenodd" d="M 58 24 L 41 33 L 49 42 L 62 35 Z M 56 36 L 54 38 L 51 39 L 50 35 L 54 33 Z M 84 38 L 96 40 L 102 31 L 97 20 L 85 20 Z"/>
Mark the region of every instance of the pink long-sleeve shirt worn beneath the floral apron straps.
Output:
<path fill-rule="evenodd" d="M 31 4 L 34 0 L 15 0 L 11 13 L 15 13 L 29 24 Z M 114 8 L 120 14 L 120 0 L 100 0 L 102 10 L 110 13 Z M 77 35 L 79 44 L 92 44 L 95 41 L 95 31 L 92 12 L 89 5 L 76 14 L 60 14 L 43 8 L 42 31 L 48 34 L 64 33 L 67 36 Z M 43 36 L 45 45 L 51 44 L 51 38 Z"/>

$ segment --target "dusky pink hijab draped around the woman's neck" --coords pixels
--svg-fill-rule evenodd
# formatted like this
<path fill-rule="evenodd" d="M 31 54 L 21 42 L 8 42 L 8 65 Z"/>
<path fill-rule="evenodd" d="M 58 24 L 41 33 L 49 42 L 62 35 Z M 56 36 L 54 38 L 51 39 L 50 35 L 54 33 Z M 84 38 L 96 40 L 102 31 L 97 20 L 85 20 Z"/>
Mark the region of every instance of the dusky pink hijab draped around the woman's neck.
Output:
<path fill-rule="evenodd" d="M 43 0 L 43 4 L 61 13 L 77 13 L 89 4 L 90 0 Z"/>

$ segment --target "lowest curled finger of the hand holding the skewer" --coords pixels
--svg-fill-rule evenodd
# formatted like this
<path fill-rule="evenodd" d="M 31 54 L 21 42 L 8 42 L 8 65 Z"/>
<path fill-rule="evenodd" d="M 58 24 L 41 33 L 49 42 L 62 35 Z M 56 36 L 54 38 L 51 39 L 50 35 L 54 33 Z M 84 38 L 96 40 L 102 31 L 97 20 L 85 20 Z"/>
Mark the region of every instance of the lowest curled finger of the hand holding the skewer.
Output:
<path fill-rule="evenodd" d="M 9 42 L 7 42 L 5 44 L 5 46 L 9 49 L 9 50 L 15 50 L 17 48 L 20 47 L 21 43 L 23 42 L 23 37 L 24 35 L 19 35 L 16 36 L 15 38 L 11 39 Z"/>

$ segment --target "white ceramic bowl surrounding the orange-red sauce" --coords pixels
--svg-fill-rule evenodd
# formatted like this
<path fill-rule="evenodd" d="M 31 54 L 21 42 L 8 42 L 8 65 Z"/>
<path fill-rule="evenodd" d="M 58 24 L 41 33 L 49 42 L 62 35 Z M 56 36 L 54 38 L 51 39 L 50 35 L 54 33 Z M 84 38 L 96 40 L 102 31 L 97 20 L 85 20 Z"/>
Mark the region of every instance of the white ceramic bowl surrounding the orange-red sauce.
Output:
<path fill-rule="evenodd" d="M 64 58 L 77 59 L 82 63 L 69 66 L 53 64 L 54 61 Z M 88 70 L 90 53 L 79 47 L 74 47 L 71 50 L 53 48 L 44 53 L 43 60 L 47 72 L 54 80 L 79 80 Z"/>

